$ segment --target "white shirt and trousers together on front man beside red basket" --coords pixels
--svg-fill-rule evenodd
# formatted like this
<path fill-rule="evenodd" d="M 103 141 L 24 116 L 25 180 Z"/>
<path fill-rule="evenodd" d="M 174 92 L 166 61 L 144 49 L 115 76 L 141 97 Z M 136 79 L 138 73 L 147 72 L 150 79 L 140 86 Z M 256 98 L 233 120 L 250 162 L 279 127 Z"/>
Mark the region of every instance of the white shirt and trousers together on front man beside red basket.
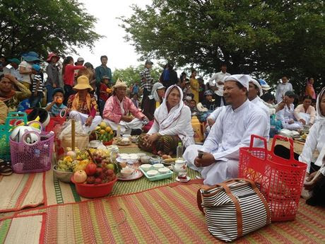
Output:
<path fill-rule="evenodd" d="M 235 110 L 230 105 L 225 106 L 201 147 L 201 151 L 212 153 L 217 161 L 201 170 L 204 184 L 214 185 L 236 177 L 240 148 L 249 146 L 252 134 L 268 139 L 268 121 L 266 113 L 248 99 Z M 263 144 L 256 140 L 254 146 Z M 187 148 L 183 154 L 190 168 L 194 165 L 196 154 L 197 151 L 192 147 Z"/>

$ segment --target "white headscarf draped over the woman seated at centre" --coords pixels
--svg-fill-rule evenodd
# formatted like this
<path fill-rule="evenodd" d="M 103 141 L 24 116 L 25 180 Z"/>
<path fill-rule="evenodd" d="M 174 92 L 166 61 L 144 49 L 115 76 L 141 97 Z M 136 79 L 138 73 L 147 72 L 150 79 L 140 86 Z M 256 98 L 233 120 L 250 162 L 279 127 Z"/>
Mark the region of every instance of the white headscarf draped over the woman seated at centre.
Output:
<path fill-rule="evenodd" d="M 168 112 L 167 104 L 166 104 L 167 98 L 168 95 L 170 94 L 170 91 L 172 91 L 173 88 L 178 89 L 180 94 L 180 100 L 179 103 L 174 107 L 172 107 L 170 112 Z M 175 122 L 175 120 L 179 118 L 179 115 L 181 114 L 181 110 L 183 107 L 184 107 L 184 103 L 183 103 L 182 89 L 177 85 L 170 86 L 165 93 L 165 98 L 162 101 L 162 104 L 159 106 L 159 108 L 155 110 L 155 120 L 158 122 L 160 130 L 170 127 L 170 124 L 172 124 L 173 122 Z"/>

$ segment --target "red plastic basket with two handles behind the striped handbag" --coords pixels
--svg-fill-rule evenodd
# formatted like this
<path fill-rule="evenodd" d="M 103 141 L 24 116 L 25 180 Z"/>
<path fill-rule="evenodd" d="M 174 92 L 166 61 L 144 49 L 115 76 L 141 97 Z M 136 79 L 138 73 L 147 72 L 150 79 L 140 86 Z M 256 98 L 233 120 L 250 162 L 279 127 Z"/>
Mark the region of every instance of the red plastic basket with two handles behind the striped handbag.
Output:
<path fill-rule="evenodd" d="M 264 148 L 256 148 L 254 138 L 264 141 Z M 290 159 L 276 156 L 276 139 L 290 142 Z M 293 157 L 293 139 L 274 136 L 271 151 L 266 139 L 252 135 L 249 147 L 240 149 L 239 177 L 254 180 L 266 197 L 272 211 L 272 221 L 295 219 L 307 165 Z"/>

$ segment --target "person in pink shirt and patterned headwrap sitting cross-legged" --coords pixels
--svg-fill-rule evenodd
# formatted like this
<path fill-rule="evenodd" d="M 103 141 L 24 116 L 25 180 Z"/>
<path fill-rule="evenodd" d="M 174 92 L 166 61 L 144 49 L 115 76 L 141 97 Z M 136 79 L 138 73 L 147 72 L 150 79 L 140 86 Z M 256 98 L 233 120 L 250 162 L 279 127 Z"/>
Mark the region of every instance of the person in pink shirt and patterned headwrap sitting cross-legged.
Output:
<path fill-rule="evenodd" d="M 126 83 L 118 79 L 112 88 L 113 95 L 107 99 L 102 112 L 104 122 L 114 131 L 119 126 L 122 134 L 141 134 L 143 122 L 148 121 L 148 118 L 126 97 Z"/>

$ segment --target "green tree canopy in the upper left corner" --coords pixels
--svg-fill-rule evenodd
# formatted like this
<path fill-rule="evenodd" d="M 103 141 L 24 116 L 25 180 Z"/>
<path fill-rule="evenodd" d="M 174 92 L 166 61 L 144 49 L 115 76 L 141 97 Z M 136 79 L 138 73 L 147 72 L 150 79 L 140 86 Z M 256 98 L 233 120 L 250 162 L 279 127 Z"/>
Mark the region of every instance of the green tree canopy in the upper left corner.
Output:
<path fill-rule="evenodd" d="M 96 18 L 76 0 L 0 0 L 0 13 L 0 54 L 6 57 L 91 49 L 101 37 L 94 31 Z"/>

